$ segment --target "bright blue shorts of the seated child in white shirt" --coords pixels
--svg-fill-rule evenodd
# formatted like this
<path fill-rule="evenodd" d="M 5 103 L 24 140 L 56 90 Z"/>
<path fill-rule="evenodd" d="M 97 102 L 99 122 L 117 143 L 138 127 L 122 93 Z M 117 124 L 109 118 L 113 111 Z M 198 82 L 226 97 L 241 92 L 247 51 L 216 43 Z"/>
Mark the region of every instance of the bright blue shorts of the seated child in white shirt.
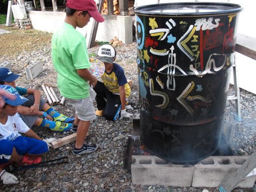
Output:
<path fill-rule="evenodd" d="M 46 142 L 29 137 L 19 136 L 15 140 L 0 140 L 0 164 L 7 163 L 12 155 L 13 148 L 20 155 L 24 154 L 43 154 L 49 151 Z"/>

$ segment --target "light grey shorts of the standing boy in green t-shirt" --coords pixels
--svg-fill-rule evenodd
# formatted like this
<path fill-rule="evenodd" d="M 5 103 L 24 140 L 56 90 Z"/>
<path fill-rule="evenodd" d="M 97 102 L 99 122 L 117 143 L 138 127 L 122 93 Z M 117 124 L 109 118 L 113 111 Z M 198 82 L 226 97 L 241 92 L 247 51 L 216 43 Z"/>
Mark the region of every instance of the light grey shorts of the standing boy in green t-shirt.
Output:
<path fill-rule="evenodd" d="M 92 102 L 92 92 L 90 97 L 84 99 L 69 99 L 70 104 L 76 109 L 78 119 L 90 121 L 96 119 L 95 109 Z"/>

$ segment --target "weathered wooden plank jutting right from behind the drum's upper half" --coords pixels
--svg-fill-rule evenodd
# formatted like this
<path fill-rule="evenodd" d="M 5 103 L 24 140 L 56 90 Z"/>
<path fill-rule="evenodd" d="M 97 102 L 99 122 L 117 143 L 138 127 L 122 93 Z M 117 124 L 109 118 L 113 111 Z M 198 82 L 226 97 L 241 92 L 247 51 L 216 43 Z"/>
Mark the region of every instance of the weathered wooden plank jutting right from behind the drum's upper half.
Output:
<path fill-rule="evenodd" d="M 238 34 L 236 39 L 236 52 L 256 60 L 256 38 Z"/>

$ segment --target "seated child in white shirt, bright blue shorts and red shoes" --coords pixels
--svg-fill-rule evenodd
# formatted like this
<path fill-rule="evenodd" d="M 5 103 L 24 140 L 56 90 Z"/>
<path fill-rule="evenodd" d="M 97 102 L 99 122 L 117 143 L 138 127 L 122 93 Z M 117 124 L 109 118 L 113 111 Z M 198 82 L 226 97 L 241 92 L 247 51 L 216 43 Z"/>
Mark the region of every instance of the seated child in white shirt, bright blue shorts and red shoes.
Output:
<path fill-rule="evenodd" d="M 22 121 L 17 114 L 18 106 L 28 99 L 9 85 L 2 85 L 0 89 L 5 90 L 15 97 L 14 100 L 2 96 L 4 106 L 0 108 L 0 179 L 3 184 L 16 184 L 18 178 L 4 170 L 10 162 L 18 166 L 37 164 L 41 162 L 41 154 L 49 151 L 48 145 L 55 139 L 42 140 L 34 131 Z M 20 133 L 28 137 L 23 137 Z"/>

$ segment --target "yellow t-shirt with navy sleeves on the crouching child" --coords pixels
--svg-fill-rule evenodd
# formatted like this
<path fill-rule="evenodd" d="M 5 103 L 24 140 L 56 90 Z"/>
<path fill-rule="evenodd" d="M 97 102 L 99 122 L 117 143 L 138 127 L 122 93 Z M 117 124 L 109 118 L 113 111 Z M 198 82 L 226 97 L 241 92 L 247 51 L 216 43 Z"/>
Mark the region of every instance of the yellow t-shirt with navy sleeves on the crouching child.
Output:
<path fill-rule="evenodd" d="M 127 83 L 124 69 L 116 63 L 113 63 L 113 65 L 113 69 L 110 73 L 107 73 L 105 70 L 104 74 L 101 76 L 102 81 L 110 92 L 117 95 L 119 95 L 119 86 L 124 85 L 126 98 L 128 98 L 131 94 L 131 89 Z"/>

